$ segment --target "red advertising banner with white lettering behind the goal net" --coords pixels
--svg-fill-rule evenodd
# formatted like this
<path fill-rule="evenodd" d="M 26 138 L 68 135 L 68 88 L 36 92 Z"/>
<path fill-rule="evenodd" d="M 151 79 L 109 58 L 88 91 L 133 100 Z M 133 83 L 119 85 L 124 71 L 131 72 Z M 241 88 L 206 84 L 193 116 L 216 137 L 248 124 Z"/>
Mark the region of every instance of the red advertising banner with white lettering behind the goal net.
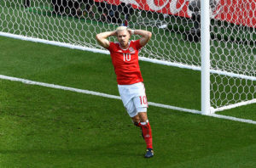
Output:
<path fill-rule="evenodd" d="M 106 1 L 110 4 L 131 3 L 133 8 L 155 11 L 162 14 L 175 14 L 182 17 L 191 17 L 192 11 L 188 5 L 191 0 L 95 0 Z M 256 27 L 255 0 L 215 0 L 212 7 L 212 18 L 225 20 L 236 25 Z"/>

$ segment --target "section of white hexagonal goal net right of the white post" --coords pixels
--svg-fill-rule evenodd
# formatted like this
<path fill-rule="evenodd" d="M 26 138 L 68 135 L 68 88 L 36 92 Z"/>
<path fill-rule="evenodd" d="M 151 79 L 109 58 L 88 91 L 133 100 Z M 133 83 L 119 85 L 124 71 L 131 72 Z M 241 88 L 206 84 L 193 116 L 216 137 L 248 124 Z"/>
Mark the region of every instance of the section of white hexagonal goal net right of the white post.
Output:
<path fill-rule="evenodd" d="M 211 75 L 214 108 L 256 98 L 255 5 L 253 0 L 219 2 L 211 24 L 211 68 L 228 73 Z"/>

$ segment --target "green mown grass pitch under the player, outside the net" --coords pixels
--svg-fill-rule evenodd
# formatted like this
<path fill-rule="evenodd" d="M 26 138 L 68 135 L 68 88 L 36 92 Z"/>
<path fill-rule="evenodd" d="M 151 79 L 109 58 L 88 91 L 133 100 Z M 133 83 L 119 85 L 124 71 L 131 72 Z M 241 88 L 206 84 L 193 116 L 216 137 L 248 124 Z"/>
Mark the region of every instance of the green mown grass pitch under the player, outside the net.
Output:
<path fill-rule="evenodd" d="M 108 55 L 0 37 L 0 74 L 118 95 Z M 140 62 L 148 101 L 200 109 L 200 72 Z M 1 168 L 255 167 L 255 125 L 150 106 L 155 156 L 120 100 L 0 80 Z M 255 104 L 224 111 L 255 120 Z"/>

